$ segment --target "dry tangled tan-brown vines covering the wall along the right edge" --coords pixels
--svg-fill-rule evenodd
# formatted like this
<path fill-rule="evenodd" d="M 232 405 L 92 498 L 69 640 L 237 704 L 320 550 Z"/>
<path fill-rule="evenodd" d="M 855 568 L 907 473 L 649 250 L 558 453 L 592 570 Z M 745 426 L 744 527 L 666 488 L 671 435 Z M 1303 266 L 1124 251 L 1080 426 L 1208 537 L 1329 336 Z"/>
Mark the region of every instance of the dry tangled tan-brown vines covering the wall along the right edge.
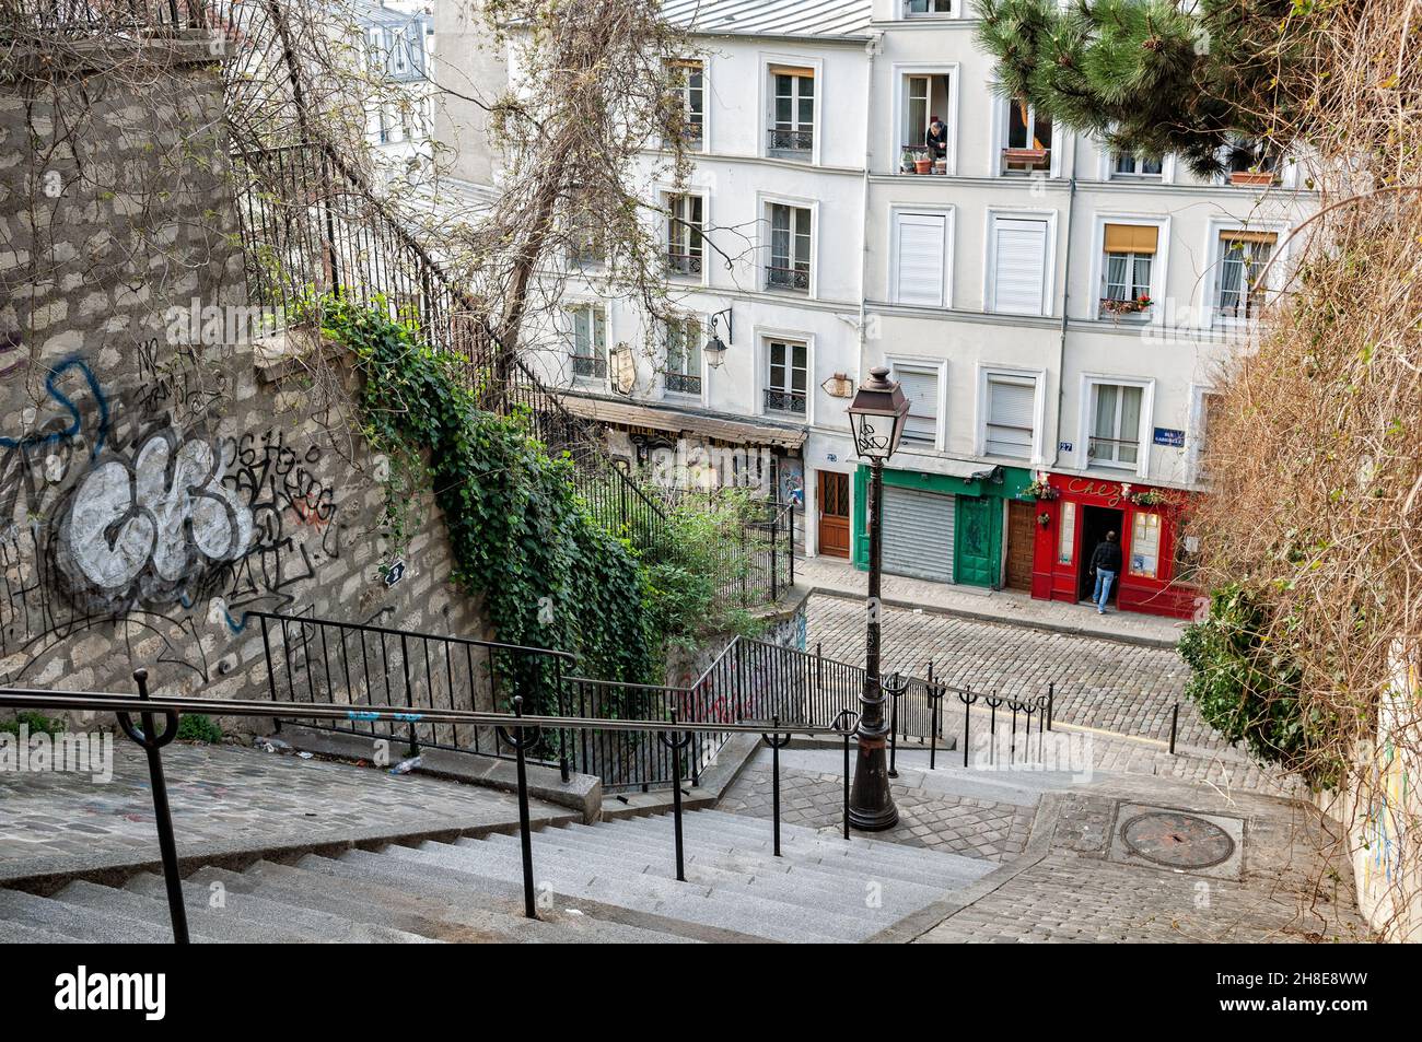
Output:
<path fill-rule="evenodd" d="M 1243 584 L 1298 667 L 1304 772 L 1349 765 L 1351 842 L 1398 910 L 1422 853 L 1422 4 L 1318 10 L 1325 74 L 1295 141 L 1321 209 L 1220 381 L 1197 530 L 1209 579 Z"/>

